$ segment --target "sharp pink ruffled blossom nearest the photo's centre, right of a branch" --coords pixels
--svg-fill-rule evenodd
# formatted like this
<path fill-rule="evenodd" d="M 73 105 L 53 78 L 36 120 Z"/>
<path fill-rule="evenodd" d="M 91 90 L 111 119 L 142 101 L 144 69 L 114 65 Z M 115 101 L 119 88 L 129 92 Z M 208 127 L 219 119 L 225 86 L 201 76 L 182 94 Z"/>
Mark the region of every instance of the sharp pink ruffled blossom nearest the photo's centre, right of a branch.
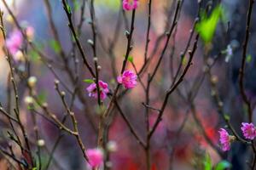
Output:
<path fill-rule="evenodd" d="M 124 71 L 123 75 L 117 78 L 125 88 L 134 88 L 137 85 L 137 75 L 133 71 Z"/>

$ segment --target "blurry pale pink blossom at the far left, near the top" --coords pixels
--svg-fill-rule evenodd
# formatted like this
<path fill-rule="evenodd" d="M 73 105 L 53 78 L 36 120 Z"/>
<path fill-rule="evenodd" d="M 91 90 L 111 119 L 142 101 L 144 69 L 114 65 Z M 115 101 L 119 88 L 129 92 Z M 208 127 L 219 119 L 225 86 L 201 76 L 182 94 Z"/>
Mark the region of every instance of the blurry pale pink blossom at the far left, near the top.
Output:
<path fill-rule="evenodd" d="M 9 50 L 9 53 L 15 55 L 21 47 L 23 42 L 23 37 L 20 31 L 12 31 L 9 38 L 6 40 L 6 47 Z"/>

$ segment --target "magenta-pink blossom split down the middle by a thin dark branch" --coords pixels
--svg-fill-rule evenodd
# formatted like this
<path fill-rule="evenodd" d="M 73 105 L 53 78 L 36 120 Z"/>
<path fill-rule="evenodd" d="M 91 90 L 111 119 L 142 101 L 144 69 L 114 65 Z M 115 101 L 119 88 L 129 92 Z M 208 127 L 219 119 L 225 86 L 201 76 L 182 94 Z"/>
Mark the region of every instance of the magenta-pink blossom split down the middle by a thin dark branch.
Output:
<path fill-rule="evenodd" d="M 106 99 L 107 94 L 109 92 L 108 83 L 102 82 L 100 80 L 99 87 L 100 87 L 100 92 L 101 92 L 101 99 Z M 88 91 L 90 97 L 94 97 L 97 99 L 98 95 L 97 95 L 97 89 L 96 89 L 96 82 L 91 83 L 90 86 L 88 88 L 86 88 L 86 90 Z"/>

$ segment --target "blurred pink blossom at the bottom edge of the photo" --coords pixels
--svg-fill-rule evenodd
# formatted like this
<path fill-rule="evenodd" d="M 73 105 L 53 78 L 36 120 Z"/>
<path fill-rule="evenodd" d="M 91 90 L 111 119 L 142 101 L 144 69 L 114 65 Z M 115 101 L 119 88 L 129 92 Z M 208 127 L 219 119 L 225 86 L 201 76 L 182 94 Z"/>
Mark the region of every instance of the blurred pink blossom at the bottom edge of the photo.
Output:
<path fill-rule="evenodd" d="M 104 156 L 101 149 L 90 149 L 86 151 L 89 158 L 90 167 L 99 167 L 102 165 Z"/>

